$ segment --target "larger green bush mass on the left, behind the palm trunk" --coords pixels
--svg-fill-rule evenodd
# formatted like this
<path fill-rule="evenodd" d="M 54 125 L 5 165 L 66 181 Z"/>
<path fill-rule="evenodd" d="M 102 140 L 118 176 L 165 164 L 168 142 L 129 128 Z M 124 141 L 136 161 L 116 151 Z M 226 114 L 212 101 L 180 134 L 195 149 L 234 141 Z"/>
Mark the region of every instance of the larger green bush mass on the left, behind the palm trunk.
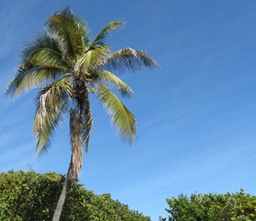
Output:
<path fill-rule="evenodd" d="M 49 221 L 62 190 L 64 176 L 57 173 L 9 171 L 0 174 L 0 220 Z M 63 221 L 150 221 L 128 206 L 96 195 L 77 181 L 71 186 L 64 204 Z"/>

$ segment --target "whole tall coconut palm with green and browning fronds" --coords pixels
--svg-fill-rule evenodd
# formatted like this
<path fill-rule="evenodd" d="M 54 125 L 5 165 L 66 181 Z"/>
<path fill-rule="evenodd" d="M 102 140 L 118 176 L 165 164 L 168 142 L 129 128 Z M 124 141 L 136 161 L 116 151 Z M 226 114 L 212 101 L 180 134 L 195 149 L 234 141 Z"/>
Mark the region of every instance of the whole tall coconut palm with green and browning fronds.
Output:
<path fill-rule="evenodd" d="M 157 62 L 147 52 L 131 48 L 111 52 L 105 40 L 111 30 L 122 24 L 109 23 L 90 41 L 87 24 L 69 7 L 53 14 L 45 24 L 45 33 L 24 46 L 17 75 L 6 89 L 8 95 L 17 97 L 33 87 L 41 87 L 34 119 L 37 156 L 47 152 L 53 131 L 69 111 L 72 155 L 54 221 L 60 219 L 66 193 L 82 169 L 83 147 L 86 152 L 88 149 L 92 127 L 89 93 L 94 93 L 111 115 L 122 139 L 132 143 L 136 137 L 133 113 L 109 87 L 116 87 L 122 96 L 130 96 L 132 89 L 113 73 L 157 67 Z"/>

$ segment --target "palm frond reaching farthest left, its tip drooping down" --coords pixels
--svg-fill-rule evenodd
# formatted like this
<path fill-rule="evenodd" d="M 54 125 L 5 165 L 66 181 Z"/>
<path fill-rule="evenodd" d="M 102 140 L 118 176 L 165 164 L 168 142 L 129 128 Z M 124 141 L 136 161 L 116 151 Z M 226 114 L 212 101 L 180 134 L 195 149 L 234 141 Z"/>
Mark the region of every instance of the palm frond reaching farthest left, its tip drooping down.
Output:
<path fill-rule="evenodd" d="M 38 87 L 51 82 L 65 73 L 63 66 L 45 64 L 35 59 L 29 59 L 17 68 L 17 75 L 11 80 L 6 88 L 6 94 L 12 98 L 23 92 L 28 92 L 34 87 Z"/>

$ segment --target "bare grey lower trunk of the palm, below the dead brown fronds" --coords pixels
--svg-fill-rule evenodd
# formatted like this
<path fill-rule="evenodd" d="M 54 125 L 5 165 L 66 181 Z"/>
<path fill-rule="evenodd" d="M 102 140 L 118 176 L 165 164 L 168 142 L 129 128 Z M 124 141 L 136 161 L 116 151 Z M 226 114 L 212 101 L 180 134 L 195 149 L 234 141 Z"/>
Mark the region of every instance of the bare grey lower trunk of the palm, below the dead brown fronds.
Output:
<path fill-rule="evenodd" d="M 61 218 L 63 207 L 64 207 L 65 197 L 66 197 L 66 194 L 67 194 L 67 192 L 68 192 L 68 190 L 69 190 L 69 188 L 71 186 L 71 181 L 72 181 L 71 173 L 72 173 L 72 170 L 73 170 L 73 163 L 72 163 L 72 157 L 71 157 L 71 162 L 69 164 L 69 168 L 67 170 L 66 177 L 65 177 L 65 180 L 64 180 L 63 190 L 62 190 L 61 195 L 59 197 L 58 204 L 57 204 L 57 206 L 55 208 L 52 221 L 59 221 L 60 218 Z"/>

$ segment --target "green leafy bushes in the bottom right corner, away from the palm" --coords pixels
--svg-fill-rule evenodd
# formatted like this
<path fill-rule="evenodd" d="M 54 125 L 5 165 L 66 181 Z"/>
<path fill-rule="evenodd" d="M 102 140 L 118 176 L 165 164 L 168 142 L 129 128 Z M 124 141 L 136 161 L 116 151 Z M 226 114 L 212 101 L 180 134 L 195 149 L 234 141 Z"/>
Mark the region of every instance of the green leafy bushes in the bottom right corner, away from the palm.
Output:
<path fill-rule="evenodd" d="M 169 221 L 255 221 L 256 196 L 241 190 L 226 194 L 180 194 L 167 199 Z M 167 219 L 161 219 L 167 220 Z"/>

